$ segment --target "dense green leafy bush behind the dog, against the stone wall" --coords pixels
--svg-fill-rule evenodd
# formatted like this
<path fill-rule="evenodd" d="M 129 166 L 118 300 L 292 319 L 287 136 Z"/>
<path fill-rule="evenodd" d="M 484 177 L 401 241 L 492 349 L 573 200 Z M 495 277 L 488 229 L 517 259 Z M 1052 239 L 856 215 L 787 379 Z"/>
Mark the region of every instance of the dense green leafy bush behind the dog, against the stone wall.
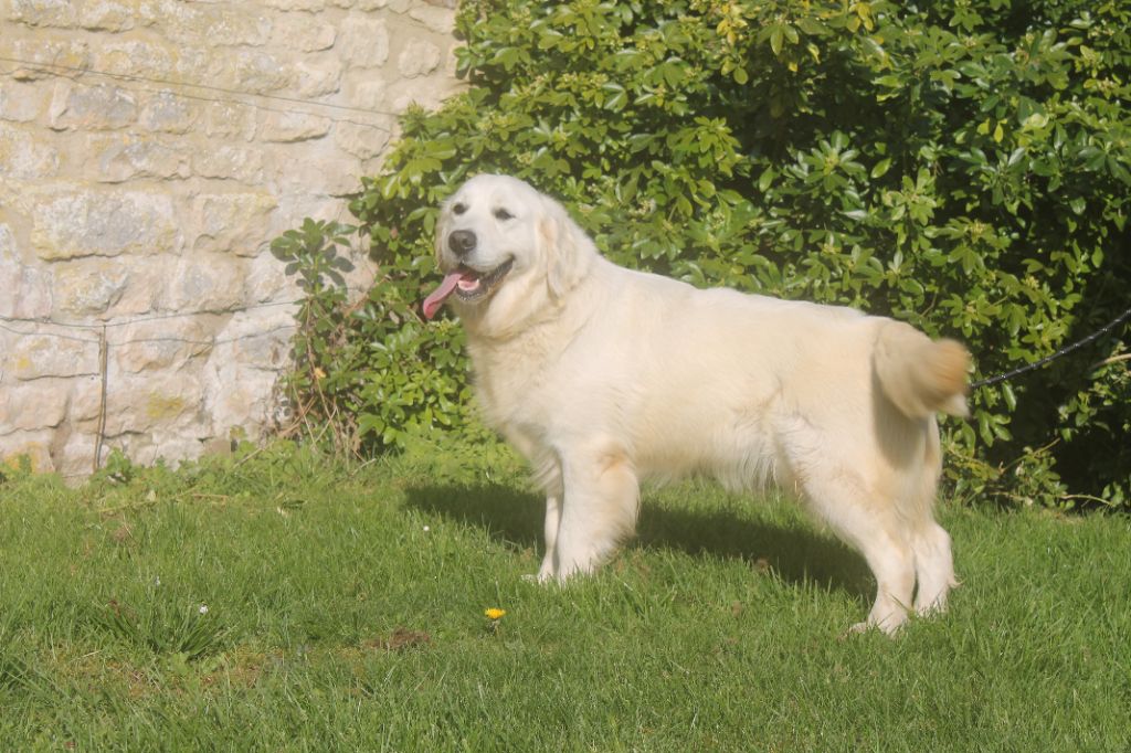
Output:
<path fill-rule="evenodd" d="M 1129 26 L 1067 0 L 467 1 L 468 89 L 409 112 L 352 205 L 382 278 L 320 356 L 334 409 L 369 451 L 468 425 L 460 331 L 417 312 L 438 202 L 490 171 L 619 263 L 888 313 L 977 375 L 1046 356 L 1129 304 Z M 977 390 L 951 491 L 1131 508 L 1126 331 Z"/>

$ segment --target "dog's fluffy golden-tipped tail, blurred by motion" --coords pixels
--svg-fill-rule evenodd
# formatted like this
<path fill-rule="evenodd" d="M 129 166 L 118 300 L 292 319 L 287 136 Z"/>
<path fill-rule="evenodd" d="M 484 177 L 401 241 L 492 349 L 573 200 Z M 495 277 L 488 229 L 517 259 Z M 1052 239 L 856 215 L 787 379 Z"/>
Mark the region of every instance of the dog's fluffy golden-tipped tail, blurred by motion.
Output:
<path fill-rule="evenodd" d="M 936 412 L 968 416 L 966 372 L 970 354 L 956 340 L 932 340 L 910 324 L 880 326 L 872 365 L 883 393 L 910 418 Z"/>

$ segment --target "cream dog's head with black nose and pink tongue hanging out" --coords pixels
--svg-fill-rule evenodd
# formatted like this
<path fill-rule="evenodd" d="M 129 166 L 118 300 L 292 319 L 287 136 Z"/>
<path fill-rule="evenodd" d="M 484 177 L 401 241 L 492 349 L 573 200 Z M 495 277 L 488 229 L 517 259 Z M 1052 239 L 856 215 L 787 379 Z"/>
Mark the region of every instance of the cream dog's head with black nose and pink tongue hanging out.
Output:
<path fill-rule="evenodd" d="M 553 199 L 516 178 L 476 175 L 440 209 L 435 256 L 444 277 L 424 315 L 450 301 L 466 323 L 512 329 L 572 288 L 595 253 Z"/>

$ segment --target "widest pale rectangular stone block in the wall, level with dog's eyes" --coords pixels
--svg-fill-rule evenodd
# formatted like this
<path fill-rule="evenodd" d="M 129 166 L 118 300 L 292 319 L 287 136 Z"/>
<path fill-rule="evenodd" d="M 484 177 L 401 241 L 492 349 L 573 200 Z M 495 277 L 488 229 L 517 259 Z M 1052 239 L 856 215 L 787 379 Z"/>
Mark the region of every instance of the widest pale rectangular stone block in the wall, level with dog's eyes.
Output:
<path fill-rule="evenodd" d="M 32 202 L 32 245 L 41 259 L 180 249 L 180 223 L 167 193 L 62 187 L 36 192 Z"/>

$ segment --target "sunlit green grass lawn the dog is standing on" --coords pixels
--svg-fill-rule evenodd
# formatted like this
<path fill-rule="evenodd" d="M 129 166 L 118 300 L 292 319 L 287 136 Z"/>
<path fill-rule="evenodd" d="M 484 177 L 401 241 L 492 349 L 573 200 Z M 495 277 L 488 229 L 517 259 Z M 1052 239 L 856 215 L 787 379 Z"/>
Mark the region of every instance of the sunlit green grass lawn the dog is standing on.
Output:
<path fill-rule="evenodd" d="M 787 502 L 650 492 L 601 574 L 541 587 L 538 496 L 450 457 L 10 476 L 0 747 L 1131 747 L 1128 518 L 943 507 L 951 611 L 843 639 L 867 570 Z"/>

